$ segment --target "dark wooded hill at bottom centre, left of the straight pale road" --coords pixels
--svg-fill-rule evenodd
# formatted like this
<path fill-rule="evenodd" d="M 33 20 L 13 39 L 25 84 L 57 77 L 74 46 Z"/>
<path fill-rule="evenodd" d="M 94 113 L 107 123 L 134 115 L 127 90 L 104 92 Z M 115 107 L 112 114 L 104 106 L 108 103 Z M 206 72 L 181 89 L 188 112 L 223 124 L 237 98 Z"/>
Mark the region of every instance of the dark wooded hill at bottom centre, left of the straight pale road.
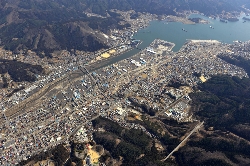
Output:
<path fill-rule="evenodd" d="M 122 165 L 175 165 L 175 163 L 169 161 L 160 161 L 166 152 L 159 152 L 155 147 L 155 140 L 142 130 L 127 129 L 101 117 L 92 122 L 95 128 L 102 127 L 105 129 L 105 132 L 94 133 L 93 138 L 96 143 L 103 145 L 115 159 L 119 159 L 119 156 L 122 156 Z M 140 157 L 141 154 L 144 155 Z"/>

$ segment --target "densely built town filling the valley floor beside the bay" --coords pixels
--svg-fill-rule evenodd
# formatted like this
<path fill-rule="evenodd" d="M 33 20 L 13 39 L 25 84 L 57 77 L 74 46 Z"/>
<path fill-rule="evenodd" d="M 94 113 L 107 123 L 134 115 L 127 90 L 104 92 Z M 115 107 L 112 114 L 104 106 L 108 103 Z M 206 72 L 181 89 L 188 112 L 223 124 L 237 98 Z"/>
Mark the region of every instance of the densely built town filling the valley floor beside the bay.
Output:
<path fill-rule="evenodd" d="M 127 17 L 130 13 L 122 14 Z M 74 55 L 62 51 L 57 59 L 52 58 L 53 64 L 46 58 L 34 62 L 32 52 L 16 56 L 1 50 L 2 58 L 41 64 L 50 72 L 38 75 L 34 83 L 13 84 L 0 92 L 0 165 L 17 164 L 72 137 L 91 140 L 91 121 L 99 116 L 121 126 L 140 128 L 154 137 L 143 126 L 128 123 L 128 114 L 147 113 L 152 118 L 191 122 L 195 120 L 189 105 L 193 87 L 218 74 L 248 77 L 244 69 L 218 57 L 230 52 L 247 55 L 214 40 L 190 40 L 172 52 L 174 43 L 156 39 L 136 55 L 102 64 L 136 47 L 131 36 L 155 17 L 142 15 L 132 20 L 131 29 L 113 30 L 107 38 L 112 49 L 77 51 Z M 235 45 L 245 47 L 239 42 Z M 6 97 L 22 86 L 25 89 Z"/>

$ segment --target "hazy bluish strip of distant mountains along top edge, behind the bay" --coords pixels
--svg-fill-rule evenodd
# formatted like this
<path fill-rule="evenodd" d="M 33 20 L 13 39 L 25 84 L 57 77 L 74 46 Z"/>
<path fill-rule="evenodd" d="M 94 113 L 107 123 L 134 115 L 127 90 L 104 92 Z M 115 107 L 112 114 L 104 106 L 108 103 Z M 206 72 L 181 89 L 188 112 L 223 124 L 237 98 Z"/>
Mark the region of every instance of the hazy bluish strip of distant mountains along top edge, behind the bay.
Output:
<path fill-rule="evenodd" d="M 154 14 L 174 14 L 173 10 L 198 10 L 205 14 L 218 14 L 222 11 L 238 11 L 246 4 L 246 0 L 22 0 L 19 5 L 25 9 L 51 9 L 54 7 L 67 7 L 79 11 L 89 10 L 93 13 L 105 15 L 107 10 L 133 9 L 139 12 Z"/>

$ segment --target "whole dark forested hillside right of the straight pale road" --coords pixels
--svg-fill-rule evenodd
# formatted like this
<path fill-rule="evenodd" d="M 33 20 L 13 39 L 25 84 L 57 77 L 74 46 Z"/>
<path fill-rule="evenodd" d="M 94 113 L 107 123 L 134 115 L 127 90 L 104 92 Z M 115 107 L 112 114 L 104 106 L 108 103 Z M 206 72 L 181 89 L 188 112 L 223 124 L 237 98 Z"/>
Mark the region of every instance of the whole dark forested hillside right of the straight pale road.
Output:
<path fill-rule="evenodd" d="M 205 129 L 175 156 L 179 165 L 249 165 L 250 79 L 214 76 L 191 95 Z"/>

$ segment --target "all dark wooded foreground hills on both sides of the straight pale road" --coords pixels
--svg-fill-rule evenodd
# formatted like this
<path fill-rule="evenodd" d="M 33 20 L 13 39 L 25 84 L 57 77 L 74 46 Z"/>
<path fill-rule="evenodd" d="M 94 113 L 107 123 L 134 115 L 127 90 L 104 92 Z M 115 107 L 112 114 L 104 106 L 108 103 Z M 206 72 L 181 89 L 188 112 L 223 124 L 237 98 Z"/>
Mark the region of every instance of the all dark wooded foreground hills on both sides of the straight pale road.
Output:
<path fill-rule="evenodd" d="M 175 159 L 165 162 L 161 159 L 181 142 L 182 136 L 194 128 L 195 122 L 178 123 L 144 115 L 141 120 L 128 120 L 135 126 L 143 126 L 154 136 L 150 137 L 140 129 L 122 127 L 116 122 L 99 117 L 92 121 L 95 129 L 93 139 L 107 150 L 100 161 L 106 165 L 116 163 L 126 166 L 247 166 L 250 163 L 249 91 L 249 78 L 220 75 L 200 84 L 190 95 L 191 109 L 197 119 L 205 121 L 204 128 L 193 134 L 185 146 L 173 154 Z M 23 161 L 22 164 L 31 160 L 39 161 L 43 154 L 38 156 L 40 157 Z M 60 158 L 60 161 L 67 158 Z M 71 159 L 68 160 L 68 165 L 73 161 L 77 163 L 77 160 Z"/>

